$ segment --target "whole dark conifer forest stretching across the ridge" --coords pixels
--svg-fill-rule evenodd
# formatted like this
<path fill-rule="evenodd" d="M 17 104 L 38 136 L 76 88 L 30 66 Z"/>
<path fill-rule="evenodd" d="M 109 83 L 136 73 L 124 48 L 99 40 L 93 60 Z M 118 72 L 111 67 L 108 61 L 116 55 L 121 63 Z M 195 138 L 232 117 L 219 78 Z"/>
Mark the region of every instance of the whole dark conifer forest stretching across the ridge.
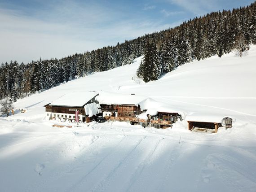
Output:
<path fill-rule="evenodd" d="M 142 55 L 145 57 L 137 76 L 149 82 L 186 62 L 213 55 L 221 57 L 237 46 L 243 50 L 250 44 L 256 44 L 256 2 L 232 11 L 212 12 L 175 28 L 62 59 L 2 63 L 0 99 L 9 97 L 15 102 L 75 77 L 130 64 Z"/>

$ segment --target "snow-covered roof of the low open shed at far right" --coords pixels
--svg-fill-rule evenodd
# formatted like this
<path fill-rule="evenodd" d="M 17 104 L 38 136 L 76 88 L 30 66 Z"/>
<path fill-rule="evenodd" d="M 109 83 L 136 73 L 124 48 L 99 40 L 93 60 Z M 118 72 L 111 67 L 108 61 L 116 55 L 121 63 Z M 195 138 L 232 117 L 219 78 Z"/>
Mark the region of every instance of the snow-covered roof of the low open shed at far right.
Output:
<path fill-rule="evenodd" d="M 229 117 L 234 120 L 231 116 L 223 116 L 223 114 L 214 114 L 214 113 L 193 113 L 187 115 L 185 120 L 190 122 L 216 122 L 221 123 L 223 118 Z"/>

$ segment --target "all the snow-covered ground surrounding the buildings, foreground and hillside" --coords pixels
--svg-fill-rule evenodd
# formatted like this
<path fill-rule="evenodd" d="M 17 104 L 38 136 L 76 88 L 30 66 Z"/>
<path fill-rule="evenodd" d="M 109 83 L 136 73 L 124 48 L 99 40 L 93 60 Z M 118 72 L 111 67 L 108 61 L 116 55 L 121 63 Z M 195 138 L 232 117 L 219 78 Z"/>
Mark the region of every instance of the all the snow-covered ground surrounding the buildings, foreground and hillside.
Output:
<path fill-rule="evenodd" d="M 18 100 L 0 118 L 0 191 L 256 191 L 256 46 L 180 66 L 158 81 L 131 65 L 96 73 Z M 126 122 L 56 128 L 44 107 L 79 91 L 149 96 L 188 116 L 232 116 L 233 128 L 191 132 Z M 112 127 L 112 128 L 110 128 Z"/>

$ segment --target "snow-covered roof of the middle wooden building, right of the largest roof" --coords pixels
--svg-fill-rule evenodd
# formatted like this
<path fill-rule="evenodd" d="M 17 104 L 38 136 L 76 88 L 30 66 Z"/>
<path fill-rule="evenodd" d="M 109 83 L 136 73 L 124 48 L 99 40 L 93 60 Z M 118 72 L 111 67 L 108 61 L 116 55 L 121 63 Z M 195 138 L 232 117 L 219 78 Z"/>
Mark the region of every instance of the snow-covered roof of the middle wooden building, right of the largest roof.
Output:
<path fill-rule="evenodd" d="M 96 97 L 96 100 L 100 104 L 114 105 L 140 105 L 141 102 L 146 100 L 146 96 L 137 96 L 137 95 L 128 95 L 121 93 L 113 92 L 99 92 L 99 96 Z"/>

